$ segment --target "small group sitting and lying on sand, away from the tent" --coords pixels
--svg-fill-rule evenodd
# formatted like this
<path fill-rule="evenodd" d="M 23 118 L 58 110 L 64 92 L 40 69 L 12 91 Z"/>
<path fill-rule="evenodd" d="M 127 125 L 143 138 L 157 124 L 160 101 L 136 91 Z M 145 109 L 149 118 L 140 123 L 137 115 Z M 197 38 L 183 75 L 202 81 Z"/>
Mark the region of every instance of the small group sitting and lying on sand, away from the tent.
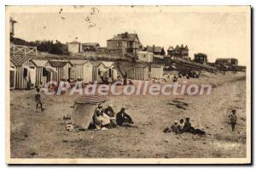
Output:
<path fill-rule="evenodd" d="M 183 119 L 181 119 L 179 122 L 174 121 L 172 126 L 166 127 L 164 129 L 164 132 L 174 132 L 174 133 L 190 132 L 193 134 L 200 134 L 200 135 L 204 135 L 206 133 L 200 129 L 195 129 L 195 127 L 192 127 L 189 117 L 187 117 L 185 121 Z"/>

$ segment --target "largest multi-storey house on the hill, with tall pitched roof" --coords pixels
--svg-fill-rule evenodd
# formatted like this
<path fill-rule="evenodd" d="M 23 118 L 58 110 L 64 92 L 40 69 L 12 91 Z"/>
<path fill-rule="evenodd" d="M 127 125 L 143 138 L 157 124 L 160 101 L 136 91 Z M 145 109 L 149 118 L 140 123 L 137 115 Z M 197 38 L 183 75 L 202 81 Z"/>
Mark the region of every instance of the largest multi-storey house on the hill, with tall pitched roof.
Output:
<path fill-rule="evenodd" d="M 107 41 L 110 54 L 137 54 L 142 44 L 136 33 L 121 33 Z"/>

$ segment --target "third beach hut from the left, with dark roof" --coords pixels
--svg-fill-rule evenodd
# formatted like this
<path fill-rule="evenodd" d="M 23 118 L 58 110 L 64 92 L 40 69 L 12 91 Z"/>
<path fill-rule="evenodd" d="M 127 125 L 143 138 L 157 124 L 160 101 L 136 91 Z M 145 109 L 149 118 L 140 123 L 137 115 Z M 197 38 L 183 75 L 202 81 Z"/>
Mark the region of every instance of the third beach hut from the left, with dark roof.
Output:
<path fill-rule="evenodd" d="M 55 68 L 52 81 L 61 82 L 71 78 L 71 69 L 73 65 L 68 60 L 49 60 L 49 65 Z"/>

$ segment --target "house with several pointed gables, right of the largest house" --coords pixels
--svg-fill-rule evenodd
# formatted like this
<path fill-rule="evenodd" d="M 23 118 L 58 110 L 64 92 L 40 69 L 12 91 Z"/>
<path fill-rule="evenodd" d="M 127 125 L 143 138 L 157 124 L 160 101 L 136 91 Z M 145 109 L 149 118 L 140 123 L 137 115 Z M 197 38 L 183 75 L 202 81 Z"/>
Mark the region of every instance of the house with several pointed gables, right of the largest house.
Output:
<path fill-rule="evenodd" d="M 189 48 L 183 44 L 179 47 L 178 45 L 173 48 L 172 46 L 168 48 L 167 54 L 173 58 L 189 59 Z"/>

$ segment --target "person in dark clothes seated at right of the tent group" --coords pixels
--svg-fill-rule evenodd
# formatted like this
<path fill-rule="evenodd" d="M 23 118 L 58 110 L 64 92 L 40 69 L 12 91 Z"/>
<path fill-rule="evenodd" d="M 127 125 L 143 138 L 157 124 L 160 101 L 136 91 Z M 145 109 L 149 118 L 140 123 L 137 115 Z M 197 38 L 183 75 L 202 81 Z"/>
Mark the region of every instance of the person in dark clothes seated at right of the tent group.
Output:
<path fill-rule="evenodd" d="M 132 121 L 131 116 L 125 113 L 125 108 L 122 108 L 116 115 L 116 123 L 120 127 L 131 127 L 131 124 L 134 122 Z"/>

